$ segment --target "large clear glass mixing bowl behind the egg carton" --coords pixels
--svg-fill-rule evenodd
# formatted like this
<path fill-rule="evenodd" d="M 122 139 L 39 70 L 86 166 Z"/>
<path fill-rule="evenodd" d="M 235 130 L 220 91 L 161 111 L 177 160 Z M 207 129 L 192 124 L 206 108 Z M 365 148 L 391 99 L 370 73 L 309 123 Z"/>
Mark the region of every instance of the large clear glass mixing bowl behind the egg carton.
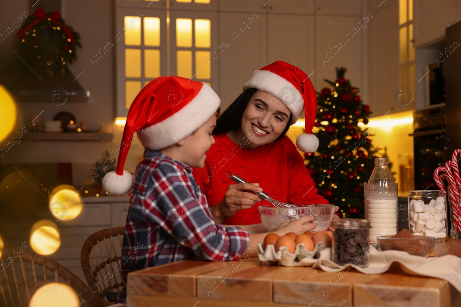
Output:
<path fill-rule="evenodd" d="M 260 218 L 267 230 L 274 231 L 282 222 L 291 222 L 304 215 L 312 215 L 317 226 L 313 231 L 322 232 L 328 229 L 335 215 L 335 205 L 317 203 L 299 203 L 291 208 L 277 208 L 273 205 L 258 207 Z"/>

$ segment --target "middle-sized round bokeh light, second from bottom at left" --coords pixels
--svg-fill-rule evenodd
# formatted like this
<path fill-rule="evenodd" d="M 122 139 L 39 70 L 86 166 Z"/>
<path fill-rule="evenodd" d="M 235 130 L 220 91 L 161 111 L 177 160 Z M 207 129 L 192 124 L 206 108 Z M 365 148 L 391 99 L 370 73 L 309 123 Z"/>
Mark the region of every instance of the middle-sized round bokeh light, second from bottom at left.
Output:
<path fill-rule="evenodd" d="M 53 254 L 61 245 L 59 229 L 51 220 L 39 220 L 30 229 L 30 246 L 41 255 Z"/>

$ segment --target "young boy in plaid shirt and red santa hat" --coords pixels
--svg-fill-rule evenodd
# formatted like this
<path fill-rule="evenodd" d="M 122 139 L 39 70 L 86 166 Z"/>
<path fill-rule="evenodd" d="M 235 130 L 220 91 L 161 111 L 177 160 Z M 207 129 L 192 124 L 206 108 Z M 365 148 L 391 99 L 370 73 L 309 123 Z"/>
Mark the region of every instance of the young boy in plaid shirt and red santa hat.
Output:
<path fill-rule="evenodd" d="M 103 179 L 111 195 L 133 189 L 122 250 L 125 284 L 129 272 L 192 257 L 238 260 L 246 250 L 254 253 L 256 244 L 262 242 L 262 233 L 249 235 L 241 227 L 216 225 L 192 175 L 192 167 L 203 168 L 205 153 L 215 142 L 211 132 L 219 104 L 207 84 L 176 76 L 149 82 L 131 104 L 117 172 Z M 146 150 L 133 184 L 123 165 L 134 132 Z M 315 226 L 310 221 L 312 217 L 303 217 L 277 232 L 312 230 Z M 126 286 L 118 294 L 119 302 L 125 300 Z"/>

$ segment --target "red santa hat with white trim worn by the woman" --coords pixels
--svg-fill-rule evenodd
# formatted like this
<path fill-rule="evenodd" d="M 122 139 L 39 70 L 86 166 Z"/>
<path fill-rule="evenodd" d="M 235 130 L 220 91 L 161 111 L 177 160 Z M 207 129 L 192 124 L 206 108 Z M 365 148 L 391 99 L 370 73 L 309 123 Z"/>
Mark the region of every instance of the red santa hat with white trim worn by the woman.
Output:
<path fill-rule="evenodd" d="M 307 134 L 298 136 L 296 146 L 304 152 L 314 152 L 319 148 L 319 139 L 311 134 L 317 115 L 317 94 L 304 71 L 286 62 L 276 61 L 254 71 L 243 90 L 247 88 L 257 88 L 280 99 L 293 115 L 291 125 L 304 110 Z"/>

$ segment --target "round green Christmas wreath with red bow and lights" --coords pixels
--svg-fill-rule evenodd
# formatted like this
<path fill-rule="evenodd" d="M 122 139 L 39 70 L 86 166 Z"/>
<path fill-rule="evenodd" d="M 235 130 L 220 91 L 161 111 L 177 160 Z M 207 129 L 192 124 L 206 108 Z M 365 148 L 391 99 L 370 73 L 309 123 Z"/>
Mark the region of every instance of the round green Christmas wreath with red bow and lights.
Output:
<path fill-rule="evenodd" d="M 41 67 L 59 68 L 77 59 L 80 35 L 65 24 L 59 11 L 49 15 L 39 7 L 18 32 L 19 47 L 29 62 Z"/>

